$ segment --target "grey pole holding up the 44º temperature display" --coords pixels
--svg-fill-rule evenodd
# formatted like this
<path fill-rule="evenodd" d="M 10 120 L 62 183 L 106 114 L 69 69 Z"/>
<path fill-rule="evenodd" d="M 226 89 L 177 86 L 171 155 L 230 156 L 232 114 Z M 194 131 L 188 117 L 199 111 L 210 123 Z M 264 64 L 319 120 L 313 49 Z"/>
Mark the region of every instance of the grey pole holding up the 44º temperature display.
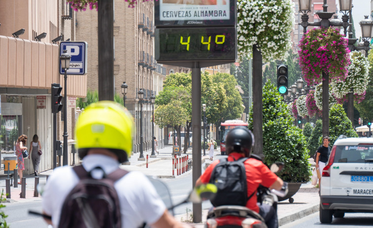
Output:
<path fill-rule="evenodd" d="M 201 140 L 201 67 L 199 62 L 193 63 L 192 68 L 192 132 L 193 142 Z M 197 133 L 198 132 L 198 133 Z M 192 147 L 193 188 L 201 176 L 201 143 L 193 143 Z M 193 222 L 202 222 L 202 204 L 193 203 Z"/>

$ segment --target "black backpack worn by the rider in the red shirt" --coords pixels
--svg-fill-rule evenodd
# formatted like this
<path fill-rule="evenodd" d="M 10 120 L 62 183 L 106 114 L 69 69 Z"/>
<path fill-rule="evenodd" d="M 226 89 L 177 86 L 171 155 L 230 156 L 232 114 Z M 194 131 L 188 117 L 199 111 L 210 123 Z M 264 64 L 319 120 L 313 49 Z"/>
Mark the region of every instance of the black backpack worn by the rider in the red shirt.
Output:
<path fill-rule="evenodd" d="M 247 181 L 244 162 L 247 158 L 228 162 L 228 159 L 220 159 L 214 167 L 210 177 L 210 183 L 215 184 L 218 191 L 211 203 L 213 206 L 238 205 L 245 206 L 247 200 Z"/>

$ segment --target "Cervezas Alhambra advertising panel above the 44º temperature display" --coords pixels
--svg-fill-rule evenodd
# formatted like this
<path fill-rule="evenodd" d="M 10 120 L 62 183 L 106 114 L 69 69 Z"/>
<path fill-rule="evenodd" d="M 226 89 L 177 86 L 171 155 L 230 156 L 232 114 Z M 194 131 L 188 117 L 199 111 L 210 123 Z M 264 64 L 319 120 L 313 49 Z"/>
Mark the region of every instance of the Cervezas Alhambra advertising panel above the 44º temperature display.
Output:
<path fill-rule="evenodd" d="M 156 0 L 156 27 L 236 26 L 236 0 Z"/>

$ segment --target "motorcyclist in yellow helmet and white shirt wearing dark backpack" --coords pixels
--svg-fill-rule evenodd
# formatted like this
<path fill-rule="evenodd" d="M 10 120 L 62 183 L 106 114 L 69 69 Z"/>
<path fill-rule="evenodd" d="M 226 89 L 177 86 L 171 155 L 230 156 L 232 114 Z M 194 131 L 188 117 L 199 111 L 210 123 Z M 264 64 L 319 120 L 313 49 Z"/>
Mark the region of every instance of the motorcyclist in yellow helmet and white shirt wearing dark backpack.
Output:
<path fill-rule="evenodd" d="M 99 101 L 85 109 L 75 127 L 82 165 L 54 169 L 43 189 L 43 213 L 51 216 L 48 224 L 56 228 L 188 226 L 170 215 L 145 175 L 119 168 L 131 156 L 134 130 L 132 115 L 117 103 Z"/>

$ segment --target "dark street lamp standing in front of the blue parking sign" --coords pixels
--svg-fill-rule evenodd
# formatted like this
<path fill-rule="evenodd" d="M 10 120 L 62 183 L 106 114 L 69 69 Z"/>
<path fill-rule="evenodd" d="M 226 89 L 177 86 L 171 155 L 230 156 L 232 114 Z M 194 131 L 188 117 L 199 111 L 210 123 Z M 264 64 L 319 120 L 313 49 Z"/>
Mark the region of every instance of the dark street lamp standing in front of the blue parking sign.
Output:
<path fill-rule="evenodd" d="M 65 69 L 65 88 L 64 88 L 64 150 L 63 150 L 63 162 L 62 165 L 68 165 L 68 68 L 70 67 L 70 58 L 71 56 L 67 53 L 67 50 L 64 50 L 64 53 L 60 56 L 61 67 Z M 61 161 L 60 161 L 61 162 Z"/>

